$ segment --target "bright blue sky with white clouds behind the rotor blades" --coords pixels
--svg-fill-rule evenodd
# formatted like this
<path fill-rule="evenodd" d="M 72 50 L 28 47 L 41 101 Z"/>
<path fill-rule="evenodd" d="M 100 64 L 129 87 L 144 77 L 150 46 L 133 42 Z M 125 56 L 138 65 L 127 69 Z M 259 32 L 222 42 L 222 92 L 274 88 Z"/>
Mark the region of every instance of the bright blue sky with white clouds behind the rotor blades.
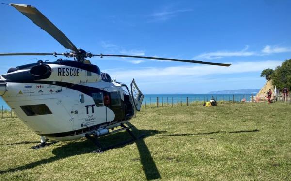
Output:
<path fill-rule="evenodd" d="M 1 0 L 35 6 L 78 48 L 231 63 L 230 67 L 130 58 L 91 58 L 145 94 L 257 89 L 263 69 L 291 58 L 290 0 Z M 0 4 L 0 52 L 68 51 L 12 6 Z M 58 57 L 64 58 L 64 57 Z M 53 56 L 0 57 L 10 67 Z"/>

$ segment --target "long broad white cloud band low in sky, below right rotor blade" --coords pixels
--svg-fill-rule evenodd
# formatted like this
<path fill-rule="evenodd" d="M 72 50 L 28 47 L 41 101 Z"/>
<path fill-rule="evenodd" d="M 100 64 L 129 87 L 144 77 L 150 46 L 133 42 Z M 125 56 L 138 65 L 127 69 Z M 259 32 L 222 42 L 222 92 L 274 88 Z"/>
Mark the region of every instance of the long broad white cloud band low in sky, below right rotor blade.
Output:
<path fill-rule="evenodd" d="M 151 84 L 153 82 L 173 83 L 175 81 L 192 81 L 200 79 L 206 75 L 224 75 L 260 72 L 266 68 L 275 68 L 281 65 L 282 61 L 259 61 L 259 62 L 237 62 L 230 67 L 222 66 L 172 66 L 172 67 L 145 67 L 140 69 L 119 69 L 107 70 L 110 75 L 117 76 L 122 82 L 130 82 L 132 78 L 140 82 Z"/>

